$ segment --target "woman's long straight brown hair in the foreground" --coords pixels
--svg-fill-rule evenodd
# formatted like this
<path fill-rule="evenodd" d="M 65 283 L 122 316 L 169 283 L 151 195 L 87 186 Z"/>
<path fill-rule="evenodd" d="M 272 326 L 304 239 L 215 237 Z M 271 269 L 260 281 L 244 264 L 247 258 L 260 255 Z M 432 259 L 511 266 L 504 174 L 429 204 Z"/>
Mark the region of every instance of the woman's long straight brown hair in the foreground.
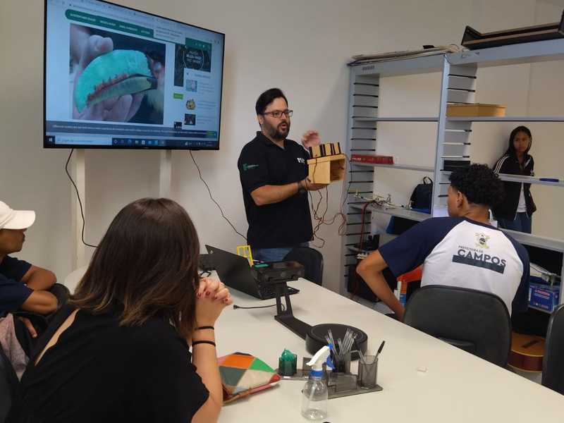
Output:
<path fill-rule="evenodd" d="M 157 317 L 181 336 L 195 325 L 200 242 L 183 207 L 166 198 L 143 198 L 110 223 L 71 303 L 93 314 L 121 313 L 121 325 Z"/>

